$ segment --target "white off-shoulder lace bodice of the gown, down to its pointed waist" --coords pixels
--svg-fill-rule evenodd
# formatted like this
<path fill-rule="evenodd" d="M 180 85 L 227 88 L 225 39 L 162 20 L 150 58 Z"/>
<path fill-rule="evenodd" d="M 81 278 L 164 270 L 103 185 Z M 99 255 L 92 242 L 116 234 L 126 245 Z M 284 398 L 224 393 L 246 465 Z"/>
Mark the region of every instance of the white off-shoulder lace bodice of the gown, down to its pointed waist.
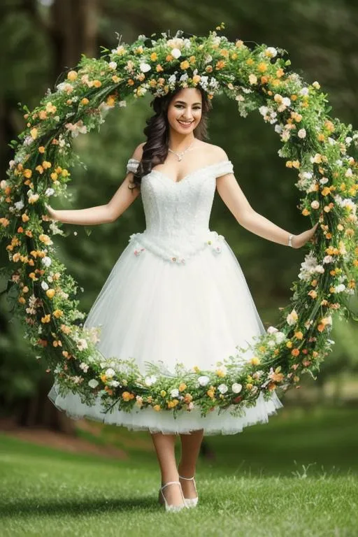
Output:
<path fill-rule="evenodd" d="M 138 164 L 129 159 L 127 171 L 135 172 Z M 144 176 L 141 196 L 146 228 L 129 238 L 134 254 L 147 249 L 171 263 L 185 263 L 203 248 L 219 253 L 224 237 L 210 231 L 209 219 L 216 178 L 232 171 L 232 163 L 224 160 L 194 170 L 179 182 L 157 170 Z"/>

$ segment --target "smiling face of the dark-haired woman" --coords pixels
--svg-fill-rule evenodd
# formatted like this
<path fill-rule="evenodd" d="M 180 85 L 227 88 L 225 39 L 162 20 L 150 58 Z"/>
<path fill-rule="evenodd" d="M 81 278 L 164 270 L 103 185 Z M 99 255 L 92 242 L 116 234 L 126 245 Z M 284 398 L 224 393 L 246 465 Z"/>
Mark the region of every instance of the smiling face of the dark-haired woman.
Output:
<path fill-rule="evenodd" d="M 169 126 L 180 134 L 189 134 L 201 120 L 201 92 L 195 87 L 185 87 L 178 92 L 168 107 Z"/>

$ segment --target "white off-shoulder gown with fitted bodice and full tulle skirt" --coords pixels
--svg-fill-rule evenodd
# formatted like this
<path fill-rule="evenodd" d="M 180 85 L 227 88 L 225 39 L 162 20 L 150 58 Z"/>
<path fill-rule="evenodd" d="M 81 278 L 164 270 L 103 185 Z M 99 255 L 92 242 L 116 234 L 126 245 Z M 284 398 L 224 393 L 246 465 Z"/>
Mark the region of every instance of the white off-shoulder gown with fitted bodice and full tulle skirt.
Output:
<path fill-rule="evenodd" d="M 127 170 L 136 171 L 136 166 L 138 161 L 129 159 Z M 142 178 L 146 228 L 130 236 L 85 321 L 85 327 L 101 325 L 97 347 L 104 356 L 134 357 L 142 373 L 147 361 L 162 361 L 169 371 L 178 362 L 208 370 L 266 333 L 234 252 L 224 237 L 209 229 L 216 178 L 232 171 L 225 160 L 201 167 L 180 182 L 157 170 Z M 251 356 L 249 352 L 248 359 Z M 168 434 L 195 429 L 204 429 L 206 435 L 235 434 L 267 422 L 268 415 L 282 407 L 273 392 L 269 401 L 260 394 L 241 417 L 217 409 L 201 417 L 199 408 L 180 410 L 173 417 L 169 410 L 136 406 L 129 413 L 116 408 L 105 414 L 99 397 L 94 406 L 87 406 L 71 392 L 60 396 L 56 382 L 48 396 L 73 419 Z"/>

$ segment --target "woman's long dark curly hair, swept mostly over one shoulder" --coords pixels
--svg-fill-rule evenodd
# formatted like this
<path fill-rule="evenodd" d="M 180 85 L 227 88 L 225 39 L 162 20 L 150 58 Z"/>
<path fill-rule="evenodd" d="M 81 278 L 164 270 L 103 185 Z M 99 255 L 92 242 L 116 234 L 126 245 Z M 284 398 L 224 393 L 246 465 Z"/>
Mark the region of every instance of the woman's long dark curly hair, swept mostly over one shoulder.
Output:
<path fill-rule="evenodd" d="M 132 186 L 129 185 L 129 188 L 141 188 L 142 177 L 150 173 L 157 164 L 165 162 L 169 148 L 167 112 L 172 99 L 181 90 L 182 88 L 179 87 L 165 96 L 155 97 L 150 103 L 155 114 L 146 120 L 147 127 L 143 132 L 147 137 L 147 141 L 143 145 L 143 156 L 138 164 L 136 173 L 134 173 L 133 182 L 131 182 Z M 202 99 L 201 120 L 194 129 L 194 136 L 199 140 L 208 140 L 208 111 L 211 109 L 211 101 L 208 99 L 208 94 L 201 87 L 198 87 L 198 90 L 201 92 Z"/>

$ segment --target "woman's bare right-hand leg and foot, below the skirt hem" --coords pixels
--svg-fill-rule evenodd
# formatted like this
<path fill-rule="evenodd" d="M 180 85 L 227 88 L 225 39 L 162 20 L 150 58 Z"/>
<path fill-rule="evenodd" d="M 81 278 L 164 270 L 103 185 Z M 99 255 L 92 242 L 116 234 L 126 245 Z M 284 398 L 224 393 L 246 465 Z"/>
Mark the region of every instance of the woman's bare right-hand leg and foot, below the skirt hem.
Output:
<path fill-rule="evenodd" d="M 201 441 L 203 440 L 203 429 L 192 431 L 191 434 L 181 434 L 182 454 L 179 463 L 179 475 L 183 478 L 192 478 L 195 475 L 196 461 L 198 459 Z M 180 480 L 182 492 L 185 498 L 196 496 L 194 483 L 192 481 Z"/>

